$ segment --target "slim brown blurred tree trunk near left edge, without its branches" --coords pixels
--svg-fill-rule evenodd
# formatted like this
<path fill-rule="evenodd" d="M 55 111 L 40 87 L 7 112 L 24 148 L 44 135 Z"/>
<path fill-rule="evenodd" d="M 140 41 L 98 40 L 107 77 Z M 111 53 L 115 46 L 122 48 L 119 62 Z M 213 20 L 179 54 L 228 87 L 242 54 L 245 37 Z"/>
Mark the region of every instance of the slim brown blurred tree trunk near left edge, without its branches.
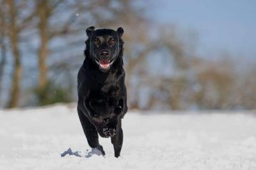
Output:
<path fill-rule="evenodd" d="M 17 26 L 17 9 L 13 0 L 6 1 L 9 8 L 10 24 L 8 25 L 10 44 L 12 47 L 12 54 L 14 57 L 14 67 L 12 73 L 12 89 L 10 92 L 10 100 L 8 107 L 17 107 L 19 104 L 20 96 L 20 79 L 22 74 L 22 66 L 20 65 L 20 52 L 19 52 L 19 28 Z"/>

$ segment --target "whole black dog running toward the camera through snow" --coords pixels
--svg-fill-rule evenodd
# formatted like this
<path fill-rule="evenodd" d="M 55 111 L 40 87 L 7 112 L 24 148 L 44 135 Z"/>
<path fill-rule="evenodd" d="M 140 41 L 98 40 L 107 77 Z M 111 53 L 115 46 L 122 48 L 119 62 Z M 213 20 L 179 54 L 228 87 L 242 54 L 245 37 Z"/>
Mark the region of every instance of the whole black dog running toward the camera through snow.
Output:
<path fill-rule="evenodd" d="M 88 27 L 84 63 L 77 75 L 77 112 L 88 144 L 98 148 L 101 137 L 111 137 L 115 157 L 123 143 L 121 119 L 127 112 L 125 72 L 123 69 L 124 30 Z"/>

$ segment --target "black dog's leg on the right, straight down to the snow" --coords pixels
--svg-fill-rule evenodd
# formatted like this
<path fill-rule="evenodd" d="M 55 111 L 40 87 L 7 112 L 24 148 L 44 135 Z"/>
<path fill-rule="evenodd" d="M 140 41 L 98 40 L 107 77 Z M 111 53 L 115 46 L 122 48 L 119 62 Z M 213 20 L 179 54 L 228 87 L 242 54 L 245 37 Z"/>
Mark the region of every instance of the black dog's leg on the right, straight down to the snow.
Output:
<path fill-rule="evenodd" d="M 111 143 L 114 146 L 115 157 L 117 158 L 120 156 L 120 152 L 122 150 L 122 144 L 123 144 L 123 130 L 121 125 L 121 120 L 116 127 L 116 135 L 111 137 Z"/>

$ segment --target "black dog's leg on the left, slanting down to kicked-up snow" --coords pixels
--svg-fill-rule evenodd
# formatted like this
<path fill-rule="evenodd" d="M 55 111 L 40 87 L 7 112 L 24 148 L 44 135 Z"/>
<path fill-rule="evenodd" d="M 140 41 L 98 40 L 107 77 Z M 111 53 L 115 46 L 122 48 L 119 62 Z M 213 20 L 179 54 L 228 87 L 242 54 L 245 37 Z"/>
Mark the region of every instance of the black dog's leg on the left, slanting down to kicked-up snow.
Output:
<path fill-rule="evenodd" d="M 96 128 L 92 125 L 92 123 L 90 123 L 88 118 L 83 114 L 83 112 L 79 108 L 77 108 L 77 112 L 89 146 L 91 148 L 97 148 L 102 152 L 102 155 L 105 155 L 105 151 L 99 144 L 99 135 L 97 133 Z"/>

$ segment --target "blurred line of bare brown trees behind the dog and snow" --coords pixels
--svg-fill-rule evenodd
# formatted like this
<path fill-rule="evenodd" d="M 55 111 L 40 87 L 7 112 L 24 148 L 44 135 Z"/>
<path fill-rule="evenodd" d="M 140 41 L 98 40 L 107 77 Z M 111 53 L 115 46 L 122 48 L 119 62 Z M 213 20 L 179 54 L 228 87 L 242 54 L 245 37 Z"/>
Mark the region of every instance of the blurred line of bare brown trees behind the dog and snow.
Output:
<path fill-rule="evenodd" d="M 86 27 L 122 26 L 130 109 L 256 108 L 255 67 L 198 56 L 196 35 L 156 26 L 136 1 L 0 4 L 0 107 L 76 101 Z"/>

